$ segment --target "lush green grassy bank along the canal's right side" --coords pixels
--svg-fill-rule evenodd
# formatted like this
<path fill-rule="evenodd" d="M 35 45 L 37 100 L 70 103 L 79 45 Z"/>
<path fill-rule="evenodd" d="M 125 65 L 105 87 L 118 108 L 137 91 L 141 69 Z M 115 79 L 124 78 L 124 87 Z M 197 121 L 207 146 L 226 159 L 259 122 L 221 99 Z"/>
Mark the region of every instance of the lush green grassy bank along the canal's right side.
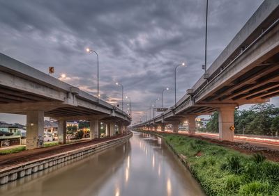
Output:
<path fill-rule="evenodd" d="M 279 195 L 279 163 L 266 161 L 262 154 L 248 156 L 197 138 L 159 135 L 187 157 L 206 195 Z"/>

